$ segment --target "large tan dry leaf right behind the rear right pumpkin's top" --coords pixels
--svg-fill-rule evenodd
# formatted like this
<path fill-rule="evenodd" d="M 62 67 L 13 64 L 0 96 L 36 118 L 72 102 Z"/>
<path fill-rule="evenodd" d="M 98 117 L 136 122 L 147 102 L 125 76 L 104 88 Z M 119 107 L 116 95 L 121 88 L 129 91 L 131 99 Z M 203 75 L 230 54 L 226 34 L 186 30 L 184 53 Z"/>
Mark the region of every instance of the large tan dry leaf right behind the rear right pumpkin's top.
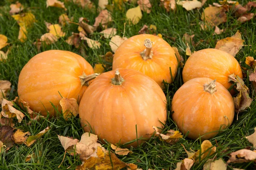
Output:
<path fill-rule="evenodd" d="M 219 40 L 216 43 L 215 49 L 225 51 L 235 57 L 239 50 L 244 46 L 244 40 L 238 38 L 238 34 L 240 33 L 237 32 L 234 37 L 227 37 L 222 40 Z"/>

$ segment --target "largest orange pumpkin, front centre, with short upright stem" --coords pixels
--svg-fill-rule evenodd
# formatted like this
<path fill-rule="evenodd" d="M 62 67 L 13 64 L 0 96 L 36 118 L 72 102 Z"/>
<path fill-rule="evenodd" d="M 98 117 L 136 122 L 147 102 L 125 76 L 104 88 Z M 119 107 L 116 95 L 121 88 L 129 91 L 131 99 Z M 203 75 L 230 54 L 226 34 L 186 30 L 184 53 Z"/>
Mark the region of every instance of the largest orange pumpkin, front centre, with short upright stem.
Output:
<path fill-rule="evenodd" d="M 92 129 L 112 144 L 147 140 L 154 133 L 152 126 L 166 122 L 166 96 L 145 74 L 119 68 L 94 79 L 81 99 L 79 117 L 84 131 Z M 137 146 L 137 142 L 130 144 Z"/>

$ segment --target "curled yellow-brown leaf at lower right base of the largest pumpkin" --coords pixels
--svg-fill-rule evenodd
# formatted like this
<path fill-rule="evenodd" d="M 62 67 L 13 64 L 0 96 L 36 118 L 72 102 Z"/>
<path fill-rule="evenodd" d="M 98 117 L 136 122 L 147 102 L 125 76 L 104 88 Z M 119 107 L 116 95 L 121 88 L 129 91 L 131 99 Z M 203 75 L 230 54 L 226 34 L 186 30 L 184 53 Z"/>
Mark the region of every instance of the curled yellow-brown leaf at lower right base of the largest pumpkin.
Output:
<path fill-rule="evenodd" d="M 156 136 L 159 136 L 160 139 L 170 144 L 175 144 L 179 141 L 180 138 L 182 138 L 182 135 L 179 131 L 168 130 L 167 133 L 164 135 L 158 131 L 157 127 L 153 126 L 153 129 L 156 131 Z"/>

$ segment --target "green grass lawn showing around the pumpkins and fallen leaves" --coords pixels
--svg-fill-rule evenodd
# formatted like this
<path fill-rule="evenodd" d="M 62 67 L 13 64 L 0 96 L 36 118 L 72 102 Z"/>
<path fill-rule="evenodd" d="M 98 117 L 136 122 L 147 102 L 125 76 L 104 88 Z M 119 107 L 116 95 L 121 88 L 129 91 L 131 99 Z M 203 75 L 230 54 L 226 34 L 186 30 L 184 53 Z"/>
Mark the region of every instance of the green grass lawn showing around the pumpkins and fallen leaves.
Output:
<path fill-rule="evenodd" d="M 213 0 L 209 0 L 203 8 L 206 8 L 208 4 L 212 4 L 213 2 Z M 29 59 L 35 56 L 35 54 L 38 54 L 37 48 L 32 43 L 40 38 L 42 34 L 47 32 L 44 20 L 49 23 L 58 23 L 58 17 L 65 13 L 63 9 L 53 7 L 46 8 L 46 0 L 20 0 L 20 3 L 22 3 L 25 8 L 29 8 L 37 20 L 37 22 L 34 23 L 33 28 L 28 30 L 28 40 L 24 43 L 17 40 L 19 26 L 9 14 L 9 5 L 11 3 L 8 0 L 0 2 L 0 13 L 2 14 L 2 16 L 0 16 L 0 34 L 6 35 L 8 37 L 8 42 L 12 45 L 12 50 L 9 53 L 8 59 L 6 61 L 0 61 L 0 79 L 12 82 L 11 94 L 7 98 L 9 100 L 12 100 L 17 96 L 17 82 L 21 69 Z M 97 4 L 97 0 L 95 0 L 94 3 Z M 244 5 L 247 1 L 240 1 L 240 3 Z M 245 57 L 255 56 L 255 20 L 251 20 L 241 25 L 236 21 L 236 17 L 231 15 L 231 11 L 229 11 L 227 12 L 227 23 L 219 26 L 221 29 L 225 28 L 226 31 L 221 35 L 215 35 L 213 34 L 214 30 L 200 30 L 198 20 L 201 18 L 203 8 L 186 11 L 184 8 L 177 6 L 176 12 L 171 11 L 168 13 L 159 6 L 159 0 L 151 0 L 151 4 L 153 6 L 152 12 L 150 14 L 143 12 L 143 18 L 137 25 L 126 25 L 125 37 L 136 35 L 144 24 L 147 24 L 148 26 L 154 24 L 157 26 L 157 34 L 162 34 L 164 40 L 170 45 L 176 46 L 186 61 L 186 45 L 182 41 L 183 34 L 195 34 L 195 44 L 200 42 L 200 40 L 204 40 L 204 42 L 200 42 L 197 46 L 192 47 L 192 51 L 198 51 L 204 48 L 214 48 L 218 40 L 230 37 L 239 30 L 243 35 L 244 44 L 247 46 L 244 46 L 240 50 L 239 54 L 236 55 L 236 59 L 239 62 L 241 61 L 242 65 L 245 66 Z M 86 17 L 90 20 L 89 24 L 93 25 L 95 17 L 98 15 L 97 11 L 94 11 L 94 13 L 89 12 L 73 3 L 65 3 L 65 6 L 67 8 L 66 12 L 68 16 L 74 17 L 74 22 L 78 22 L 79 17 Z M 134 7 L 134 5 L 126 3 L 125 11 L 132 7 Z M 255 12 L 255 9 L 252 11 Z M 124 23 L 127 23 L 125 12 L 116 11 L 113 13 L 112 17 L 113 22 L 110 23 L 110 26 L 116 28 L 117 34 L 122 37 Z M 97 31 L 101 30 L 102 28 L 99 27 Z M 86 55 L 83 55 L 81 54 L 80 49 L 64 42 L 68 36 L 71 36 L 72 32 L 78 32 L 77 26 L 75 24 L 67 25 L 63 28 L 63 31 L 66 32 L 66 37 L 59 39 L 55 44 L 42 47 L 40 52 L 50 49 L 72 51 L 85 57 L 87 61 L 94 66 L 96 63 L 104 62 L 100 56 L 111 51 L 109 40 L 99 39 L 101 36 L 95 33 L 92 35 L 92 39 L 99 40 L 102 47 L 99 50 L 93 50 L 86 47 Z M 175 37 L 176 40 L 174 41 L 171 37 Z M 6 51 L 7 47 L 2 50 Z M 172 97 L 175 94 L 175 91 L 177 91 L 183 84 L 181 73 L 182 68 L 179 68 L 175 82 L 169 85 L 168 90 L 165 91 L 168 102 L 168 120 L 164 132 L 170 129 L 177 130 L 175 123 L 170 118 L 170 110 Z M 244 81 L 251 89 L 248 78 L 245 78 Z M 250 96 L 252 96 L 252 94 L 250 94 Z M 25 114 L 28 115 L 27 113 Z M 212 144 L 217 147 L 217 151 L 216 154 L 207 157 L 207 159 L 215 157 L 227 161 L 231 152 L 252 146 L 252 144 L 245 139 L 245 136 L 253 133 L 253 129 L 256 126 L 256 102 L 253 101 L 247 111 L 239 113 L 238 118 L 239 120 L 235 119 L 228 129 L 222 130 L 220 134 L 210 139 Z M 51 127 L 51 130 L 31 147 L 27 147 L 24 144 L 16 144 L 15 147 L 12 147 L 9 151 L 2 150 L 0 153 L 0 170 L 56 170 L 64 157 L 64 149 L 61 146 L 57 135 L 72 136 L 73 138 L 80 139 L 83 134 L 83 130 L 79 123 L 79 117 L 69 119 L 67 122 L 61 116 L 49 120 L 41 119 L 38 122 L 32 122 L 31 125 L 26 124 L 28 121 L 29 116 L 26 116 L 26 119 L 21 123 L 17 123 L 17 120 L 15 120 L 15 128 L 29 131 L 32 135 L 37 134 L 47 126 Z M 119 158 L 126 163 L 137 164 L 143 170 L 147 170 L 148 168 L 156 170 L 173 170 L 176 168 L 177 162 L 187 158 L 186 152 L 181 144 L 184 145 L 186 150 L 189 150 L 189 148 L 198 150 L 201 141 L 199 139 L 190 140 L 185 138 L 180 139 L 180 141 L 174 145 L 169 145 L 166 142 L 161 142 L 157 137 L 152 137 L 142 146 L 137 148 L 131 147 L 131 150 L 134 152 L 133 154 L 119 156 Z M 107 144 L 104 146 L 109 147 Z M 35 153 L 37 158 L 25 162 L 26 156 L 32 153 Z M 40 153 L 41 156 L 39 156 Z M 201 162 L 195 164 L 192 169 L 201 170 L 207 159 L 201 160 Z M 73 170 L 79 164 L 81 164 L 81 161 L 78 157 L 66 154 L 64 162 L 59 169 L 64 170 L 67 169 L 67 167 L 70 167 L 69 169 Z M 256 164 L 253 162 L 229 164 L 228 169 L 232 170 L 232 168 L 252 170 L 256 169 Z"/>

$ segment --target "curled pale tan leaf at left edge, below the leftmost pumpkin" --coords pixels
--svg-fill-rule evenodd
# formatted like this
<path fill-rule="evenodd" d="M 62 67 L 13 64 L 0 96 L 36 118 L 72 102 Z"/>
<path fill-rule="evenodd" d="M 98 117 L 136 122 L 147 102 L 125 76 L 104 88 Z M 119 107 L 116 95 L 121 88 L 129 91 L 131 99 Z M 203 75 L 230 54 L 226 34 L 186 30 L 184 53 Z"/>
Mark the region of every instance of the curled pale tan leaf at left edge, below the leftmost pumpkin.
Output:
<path fill-rule="evenodd" d="M 18 111 L 17 109 L 15 109 L 13 106 L 13 103 L 3 99 L 2 101 L 2 111 L 1 114 L 6 117 L 6 118 L 13 118 L 13 117 L 17 117 L 18 122 L 20 123 L 22 121 L 22 119 L 24 118 L 24 114 L 21 111 Z"/>

